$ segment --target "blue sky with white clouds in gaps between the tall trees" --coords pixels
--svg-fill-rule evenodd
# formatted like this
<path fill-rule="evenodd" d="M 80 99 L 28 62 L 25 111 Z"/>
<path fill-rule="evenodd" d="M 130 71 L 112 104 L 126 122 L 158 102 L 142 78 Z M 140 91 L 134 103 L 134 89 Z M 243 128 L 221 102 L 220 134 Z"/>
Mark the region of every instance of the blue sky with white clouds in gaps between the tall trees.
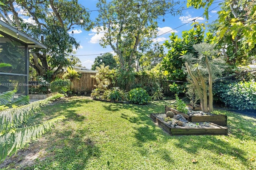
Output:
<path fill-rule="evenodd" d="M 82 4 L 85 8 L 88 8 L 89 10 L 97 10 L 96 3 L 97 0 L 78 0 L 78 3 Z M 218 1 L 217 1 L 218 2 Z M 208 23 L 216 20 L 218 18 L 218 10 L 219 8 L 216 8 L 219 3 L 212 4 L 212 6 L 209 8 L 209 10 L 214 10 L 209 12 L 209 20 Z M 184 4 L 185 6 L 186 4 Z M 160 43 L 164 43 L 165 40 L 168 40 L 168 37 L 170 36 L 171 32 L 175 32 L 178 36 L 181 36 L 182 31 L 190 30 L 191 24 L 194 23 L 192 20 L 196 19 L 196 22 L 199 23 L 205 23 L 207 20 L 203 18 L 201 15 L 203 14 L 204 9 L 196 10 L 196 9 L 188 9 L 183 10 L 182 15 L 180 16 L 171 16 L 170 14 L 166 14 L 164 16 L 165 22 L 162 22 L 162 17 L 158 20 L 158 35 L 166 34 L 159 36 L 156 41 Z M 91 12 L 90 19 L 95 20 L 95 18 L 98 16 L 96 11 Z M 192 21 L 192 22 L 190 22 Z M 186 24 L 190 22 L 189 24 Z M 185 24 L 185 25 L 184 25 Z M 184 25 L 184 26 L 182 26 Z M 177 28 L 181 26 L 180 28 Z M 174 28 L 177 28 L 175 30 L 172 30 Z M 172 30 L 172 31 L 170 31 Z M 71 34 L 72 30 L 70 31 Z M 80 49 L 76 51 L 75 56 L 77 56 L 82 66 L 85 66 L 86 68 L 90 69 L 91 65 L 94 62 L 94 59 L 100 55 L 100 53 L 106 53 L 113 51 L 110 47 L 103 48 L 99 44 L 100 37 L 103 36 L 103 33 L 96 34 L 96 30 L 92 29 L 90 31 L 81 30 L 79 28 L 74 28 L 74 38 L 80 42 Z M 114 54 L 114 53 L 113 53 Z"/>

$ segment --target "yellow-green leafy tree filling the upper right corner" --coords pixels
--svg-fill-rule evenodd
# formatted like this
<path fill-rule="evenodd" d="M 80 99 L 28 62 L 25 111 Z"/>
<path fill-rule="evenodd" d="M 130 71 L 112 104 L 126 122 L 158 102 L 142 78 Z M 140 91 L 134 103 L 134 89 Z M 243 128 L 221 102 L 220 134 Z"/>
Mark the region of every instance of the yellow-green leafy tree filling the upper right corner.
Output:
<path fill-rule="evenodd" d="M 212 3 L 213 0 L 188 0 L 187 6 L 205 8 L 204 15 L 208 18 Z M 256 55 L 256 1 L 232 0 L 221 5 L 218 20 L 211 28 L 217 36 L 217 47 L 231 65 L 248 64 L 249 57 Z"/>

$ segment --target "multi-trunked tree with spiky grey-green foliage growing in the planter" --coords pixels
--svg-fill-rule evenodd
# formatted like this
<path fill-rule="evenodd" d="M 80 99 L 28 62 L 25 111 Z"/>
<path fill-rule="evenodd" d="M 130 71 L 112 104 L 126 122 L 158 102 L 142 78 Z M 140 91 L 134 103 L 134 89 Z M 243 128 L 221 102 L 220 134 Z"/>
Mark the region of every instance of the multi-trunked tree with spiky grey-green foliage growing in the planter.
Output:
<path fill-rule="evenodd" d="M 190 79 L 188 81 L 193 82 L 196 87 L 202 111 L 209 113 L 213 110 L 212 81 L 214 76 L 221 75 L 222 69 L 219 66 L 223 62 L 221 57 L 217 57 L 218 51 L 214 50 L 213 45 L 204 42 L 193 47 L 197 55 L 192 53 L 184 55 L 186 69 L 192 78 L 192 81 Z"/>

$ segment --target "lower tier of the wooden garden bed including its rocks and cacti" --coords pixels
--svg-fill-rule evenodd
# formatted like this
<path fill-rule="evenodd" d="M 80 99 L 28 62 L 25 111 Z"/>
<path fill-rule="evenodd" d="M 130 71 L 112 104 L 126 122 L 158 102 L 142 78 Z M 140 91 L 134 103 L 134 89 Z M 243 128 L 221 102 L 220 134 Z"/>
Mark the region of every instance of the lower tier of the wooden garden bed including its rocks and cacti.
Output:
<path fill-rule="evenodd" d="M 183 121 L 184 117 L 182 115 L 174 115 L 173 118 L 167 118 L 166 114 L 152 113 L 150 117 L 170 135 L 228 134 L 228 128 L 226 127 L 210 122 Z"/>

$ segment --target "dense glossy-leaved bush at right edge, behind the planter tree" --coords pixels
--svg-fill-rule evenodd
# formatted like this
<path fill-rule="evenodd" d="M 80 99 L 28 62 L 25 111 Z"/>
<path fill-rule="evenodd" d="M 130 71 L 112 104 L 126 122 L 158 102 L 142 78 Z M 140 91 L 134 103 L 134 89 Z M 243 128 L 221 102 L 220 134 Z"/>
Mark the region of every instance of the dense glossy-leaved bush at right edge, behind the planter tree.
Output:
<path fill-rule="evenodd" d="M 227 107 L 238 110 L 256 109 L 255 81 L 220 81 L 214 84 L 213 92 Z"/>

